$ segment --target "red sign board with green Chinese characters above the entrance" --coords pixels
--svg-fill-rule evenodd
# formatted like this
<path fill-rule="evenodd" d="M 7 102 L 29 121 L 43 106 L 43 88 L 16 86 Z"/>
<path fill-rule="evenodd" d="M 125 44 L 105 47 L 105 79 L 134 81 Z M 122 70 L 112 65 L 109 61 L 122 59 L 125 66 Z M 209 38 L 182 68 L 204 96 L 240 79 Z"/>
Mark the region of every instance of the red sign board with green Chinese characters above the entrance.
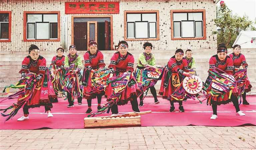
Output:
<path fill-rule="evenodd" d="M 119 2 L 65 2 L 65 14 L 119 14 Z"/>

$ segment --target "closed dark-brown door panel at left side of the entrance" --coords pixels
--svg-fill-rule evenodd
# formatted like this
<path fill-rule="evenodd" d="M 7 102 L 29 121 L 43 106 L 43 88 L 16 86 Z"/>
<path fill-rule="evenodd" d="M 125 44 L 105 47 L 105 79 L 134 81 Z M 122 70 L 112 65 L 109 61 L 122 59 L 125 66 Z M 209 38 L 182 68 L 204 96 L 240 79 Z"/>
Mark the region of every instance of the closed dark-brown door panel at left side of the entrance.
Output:
<path fill-rule="evenodd" d="M 74 23 L 74 45 L 78 51 L 87 51 L 87 22 Z"/>

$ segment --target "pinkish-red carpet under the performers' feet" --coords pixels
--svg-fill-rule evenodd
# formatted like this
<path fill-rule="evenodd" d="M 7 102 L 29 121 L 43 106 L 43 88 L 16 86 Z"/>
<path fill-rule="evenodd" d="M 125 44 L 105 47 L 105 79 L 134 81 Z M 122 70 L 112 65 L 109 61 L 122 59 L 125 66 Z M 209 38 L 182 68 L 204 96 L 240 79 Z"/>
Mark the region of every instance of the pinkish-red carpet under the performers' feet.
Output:
<path fill-rule="evenodd" d="M 87 101 L 83 99 L 83 105 L 77 105 L 75 99 L 75 107 L 67 108 L 67 100 L 58 98 L 58 103 L 53 103 L 52 114 L 54 117 L 47 118 L 47 113 L 44 113 L 44 107 L 29 109 L 29 120 L 17 121 L 23 115 L 23 110 L 13 117 L 13 120 L 8 120 L 4 123 L 6 117 L 0 116 L 0 129 L 81 129 L 84 128 L 84 118 L 87 110 Z M 17 99 L 8 99 L 0 104 L 0 109 L 9 107 L 15 103 Z M 102 98 L 102 103 L 105 102 Z M 169 101 L 158 97 L 160 104 L 154 104 L 153 97 L 146 97 L 144 106 L 139 107 L 140 111 L 152 110 L 150 114 L 141 115 L 142 126 L 240 126 L 240 125 L 256 125 L 256 96 L 247 96 L 247 101 L 250 105 L 240 105 L 246 116 L 236 116 L 235 107 L 232 103 L 221 105 L 217 108 L 218 118 L 211 120 L 212 108 L 206 105 L 206 101 L 202 104 L 197 103 L 198 100 L 188 99 L 183 102 L 185 112 L 178 111 L 178 103 L 174 103 L 175 112 L 169 112 Z M 97 109 L 97 99 L 92 101 L 92 110 Z M 119 106 L 119 114 L 131 112 L 131 104 Z M 10 111 L 8 111 L 10 112 Z M 96 116 L 111 115 L 104 113 Z M 95 116 L 95 117 L 96 117 Z"/>

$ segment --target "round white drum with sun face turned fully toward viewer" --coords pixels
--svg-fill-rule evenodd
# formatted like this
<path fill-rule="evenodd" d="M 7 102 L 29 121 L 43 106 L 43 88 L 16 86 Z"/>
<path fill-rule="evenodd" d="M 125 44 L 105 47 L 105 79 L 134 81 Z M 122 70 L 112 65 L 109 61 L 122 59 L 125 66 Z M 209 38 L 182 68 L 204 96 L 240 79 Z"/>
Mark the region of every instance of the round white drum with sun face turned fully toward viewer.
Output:
<path fill-rule="evenodd" d="M 201 79 L 195 75 L 192 77 L 185 77 L 183 80 L 183 88 L 190 94 L 197 94 L 202 90 L 203 83 Z"/>

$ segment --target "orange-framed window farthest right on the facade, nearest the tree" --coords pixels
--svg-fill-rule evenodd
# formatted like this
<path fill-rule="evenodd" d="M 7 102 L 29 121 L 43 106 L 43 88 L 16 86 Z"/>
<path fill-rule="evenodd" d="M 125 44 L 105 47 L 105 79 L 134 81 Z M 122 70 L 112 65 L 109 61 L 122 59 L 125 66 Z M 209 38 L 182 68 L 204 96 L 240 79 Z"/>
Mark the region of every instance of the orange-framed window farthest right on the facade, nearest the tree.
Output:
<path fill-rule="evenodd" d="M 172 40 L 205 40 L 205 10 L 171 10 Z"/>

